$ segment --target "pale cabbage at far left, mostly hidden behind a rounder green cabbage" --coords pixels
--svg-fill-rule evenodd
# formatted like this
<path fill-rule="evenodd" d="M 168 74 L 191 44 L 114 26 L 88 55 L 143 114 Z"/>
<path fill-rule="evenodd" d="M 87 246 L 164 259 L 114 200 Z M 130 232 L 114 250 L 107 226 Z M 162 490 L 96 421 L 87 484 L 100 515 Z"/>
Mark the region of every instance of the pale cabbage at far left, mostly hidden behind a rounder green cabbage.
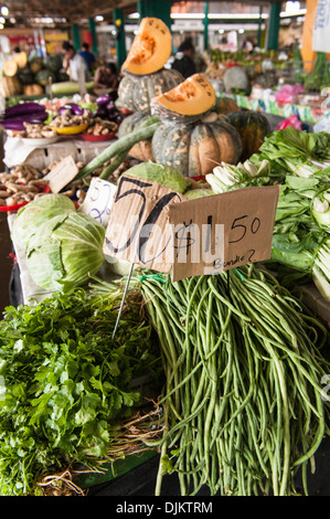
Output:
<path fill-rule="evenodd" d="M 21 208 L 13 220 L 11 239 L 15 246 L 26 248 L 30 237 L 51 216 L 75 212 L 73 201 L 64 194 L 43 194 Z"/>

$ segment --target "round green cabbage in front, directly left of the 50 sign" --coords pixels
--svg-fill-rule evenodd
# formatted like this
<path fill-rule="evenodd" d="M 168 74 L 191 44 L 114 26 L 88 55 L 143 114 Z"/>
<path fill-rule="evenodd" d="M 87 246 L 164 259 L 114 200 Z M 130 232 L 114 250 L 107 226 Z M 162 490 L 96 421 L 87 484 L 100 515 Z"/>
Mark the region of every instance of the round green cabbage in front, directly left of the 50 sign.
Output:
<path fill-rule="evenodd" d="M 67 292 L 100 268 L 104 239 L 104 226 L 92 216 L 79 212 L 57 214 L 29 240 L 28 271 L 36 285 Z"/>

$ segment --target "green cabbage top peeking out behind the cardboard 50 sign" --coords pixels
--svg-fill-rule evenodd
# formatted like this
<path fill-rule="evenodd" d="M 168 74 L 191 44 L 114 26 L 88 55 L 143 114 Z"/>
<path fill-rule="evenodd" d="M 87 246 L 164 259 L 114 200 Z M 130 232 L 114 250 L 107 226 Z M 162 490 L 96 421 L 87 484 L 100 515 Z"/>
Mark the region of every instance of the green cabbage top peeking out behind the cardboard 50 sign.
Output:
<path fill-rule="evenodd" d="M 151 160 L 129 168 L 125 174 L 152 180 L 181 194 L 187 190 L 185 179 L 179 169 L 151 162 Z"/>

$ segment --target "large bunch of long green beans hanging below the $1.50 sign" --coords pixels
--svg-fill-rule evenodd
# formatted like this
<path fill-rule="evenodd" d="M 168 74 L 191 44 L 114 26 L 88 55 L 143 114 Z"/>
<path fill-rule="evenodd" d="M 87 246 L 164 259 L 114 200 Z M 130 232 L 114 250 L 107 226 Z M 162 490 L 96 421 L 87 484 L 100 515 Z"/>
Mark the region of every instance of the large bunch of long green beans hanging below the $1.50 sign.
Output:
<path fill-rule="evenodd" d="M 298 494 L 295 475 L 329 433 L 321 377 L 323 325 L 253 265 L 172 283 L 143 276 L 141 292 L 161 342 L 163 475 L 181 495 Z"/>

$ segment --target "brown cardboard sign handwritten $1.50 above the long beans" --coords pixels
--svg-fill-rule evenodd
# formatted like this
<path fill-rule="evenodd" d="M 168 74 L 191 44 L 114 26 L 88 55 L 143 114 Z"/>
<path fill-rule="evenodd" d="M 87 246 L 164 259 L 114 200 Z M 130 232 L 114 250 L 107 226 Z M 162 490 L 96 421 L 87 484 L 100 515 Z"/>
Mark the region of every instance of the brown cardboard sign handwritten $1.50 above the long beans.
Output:
<path fill-rule="evenodd" d="M 172 279 L 269 260 L 279 190 L 245 188 L 171 205 Z"/>

